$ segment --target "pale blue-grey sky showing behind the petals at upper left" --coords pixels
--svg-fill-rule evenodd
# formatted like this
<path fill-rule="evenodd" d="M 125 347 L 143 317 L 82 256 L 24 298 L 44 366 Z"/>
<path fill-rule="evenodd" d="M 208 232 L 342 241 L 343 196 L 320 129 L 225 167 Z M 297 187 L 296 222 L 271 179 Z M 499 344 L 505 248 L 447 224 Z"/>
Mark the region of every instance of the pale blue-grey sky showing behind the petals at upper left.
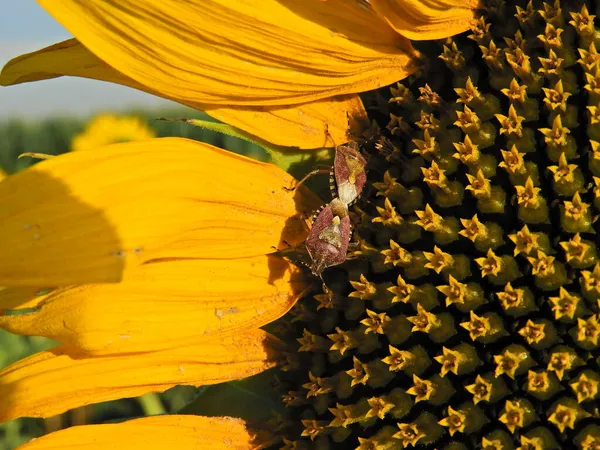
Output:
<path fill-rule="evenodd" d="M 0 66 L 14 56 L 71 37 L 35 0 L 0 0 L 0 11 Z M 110 83 L 63 77 L 0 87 L 0 120 L 51 115 L 86 117 L 98 111 L 169 103 Z"/>

